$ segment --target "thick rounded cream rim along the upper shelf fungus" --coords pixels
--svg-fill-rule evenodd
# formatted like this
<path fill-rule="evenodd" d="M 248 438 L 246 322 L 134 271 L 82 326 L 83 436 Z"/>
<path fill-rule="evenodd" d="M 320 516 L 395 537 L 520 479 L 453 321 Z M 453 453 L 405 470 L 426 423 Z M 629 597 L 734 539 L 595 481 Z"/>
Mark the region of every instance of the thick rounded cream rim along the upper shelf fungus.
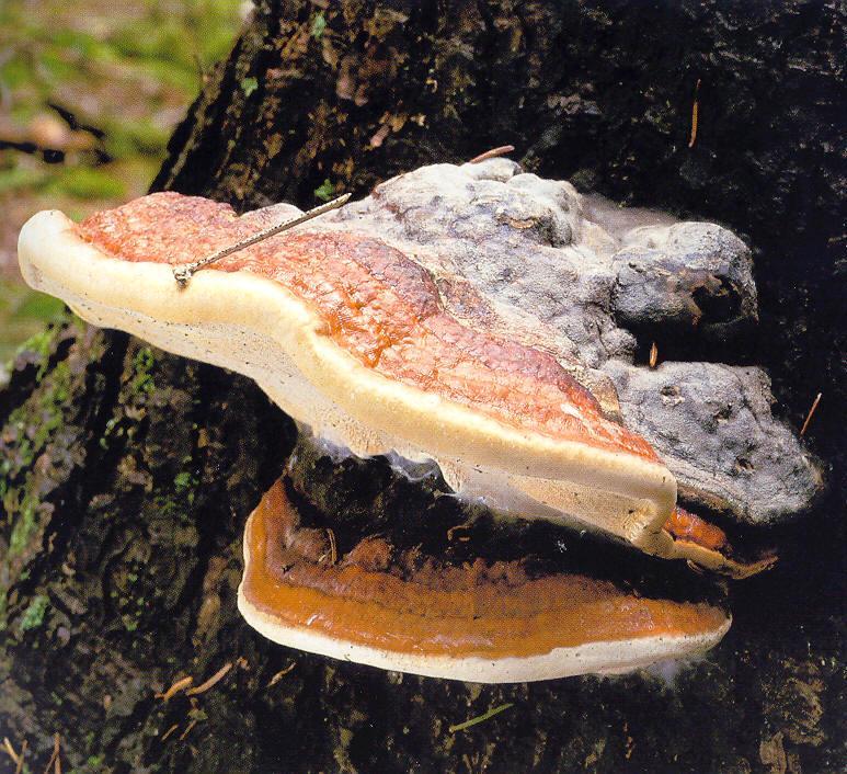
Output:
<path fill-rule="evenodd" d="M 19 261 L 28 284 L 66 300 L 91 299 L 174 323 L 237 322 L 274 339 L 352 417 L 433 456 L 644 499 L 653 511 L 648 532 L 661 531 L 676 502 L 676 481 L 664 465 L 524 432 L 377 374 L 323 335 L 306 304 L 264 277 L 201 271 L 180 289 L 171 266 L 110 258 L 80 239 L 58 210 L 38 213 L 24 225 Z"/>

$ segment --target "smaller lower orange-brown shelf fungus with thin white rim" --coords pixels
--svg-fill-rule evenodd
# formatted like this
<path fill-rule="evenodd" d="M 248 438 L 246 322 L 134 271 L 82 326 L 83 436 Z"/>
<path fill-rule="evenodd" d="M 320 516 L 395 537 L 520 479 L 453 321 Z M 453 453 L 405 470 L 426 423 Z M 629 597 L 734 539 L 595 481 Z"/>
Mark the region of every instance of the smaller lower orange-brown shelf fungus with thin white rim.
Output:
<path fill-rule="evenodd" d="M 333 564 L 282 481 L 244 533 L 238 604 L 268 639 L 382 669 L 469 682 L 615 674 L 711 648 L 731 618 L 703 601 L 645 599 L 518 561 L 444 566 L 362 540 Z"/>

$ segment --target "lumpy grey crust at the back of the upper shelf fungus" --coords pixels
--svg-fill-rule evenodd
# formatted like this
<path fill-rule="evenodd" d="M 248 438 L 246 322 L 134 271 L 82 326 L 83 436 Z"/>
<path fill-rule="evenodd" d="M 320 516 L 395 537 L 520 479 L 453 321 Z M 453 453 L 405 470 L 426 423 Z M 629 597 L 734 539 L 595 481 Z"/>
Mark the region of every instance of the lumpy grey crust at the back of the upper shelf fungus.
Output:
<path fill-rule="evenodd" d="M 774 417 L 755 364 L 636 365 L 641 329 L 684 330 L 708 350 L 756 323 L 751 251 L 730 230 L 583 196 L 504 158 L 421 168 L 332 219 L 470 286 L 490 328 L 554 354 L 650 441 L 686 502 L 769 524 L 821 493 L 819 465 Z M 454 295 L 461 316 L 469 294 Z"/>

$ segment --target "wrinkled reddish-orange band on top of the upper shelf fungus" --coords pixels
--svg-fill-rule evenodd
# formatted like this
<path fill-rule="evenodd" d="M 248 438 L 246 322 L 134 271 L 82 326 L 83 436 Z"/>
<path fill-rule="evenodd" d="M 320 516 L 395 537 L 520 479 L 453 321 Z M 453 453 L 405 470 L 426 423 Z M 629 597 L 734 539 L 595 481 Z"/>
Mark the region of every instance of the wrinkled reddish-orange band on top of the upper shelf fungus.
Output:
<path fill-rule="evenodd" d="M 225 204 L 161 193 L 92 215 L 79 234 L 122 261 L 180 265 L 248 238 L 272 225 L 270 217 L 238 217 Z M 507 421 L 519 417 L 554 437 L 590 436 L 597 446 L 657 460 L 643 439 L 606 420 L 553 357 L 446 312 L 430 273 L 379 239 L 305 229 L 224 258 L 214 271 L 250 272 L 293 289 L 312 305 L 327 335 L 389 378 Z"/>

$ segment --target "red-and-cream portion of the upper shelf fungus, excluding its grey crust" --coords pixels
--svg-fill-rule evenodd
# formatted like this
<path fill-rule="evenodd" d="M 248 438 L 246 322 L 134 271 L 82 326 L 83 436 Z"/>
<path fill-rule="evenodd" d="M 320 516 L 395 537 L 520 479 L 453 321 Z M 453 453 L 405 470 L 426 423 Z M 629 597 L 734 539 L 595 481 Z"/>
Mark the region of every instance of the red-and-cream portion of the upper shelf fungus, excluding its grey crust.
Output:
<path fill-rule="evenodd" d="M 80 225 L 44 212 L 21 231 L 20 265 L 33 287 L 94 325 L 252 377 L 302 429 L 353 454 L 433 459 L 458 494 L 494 510 L 747 571 L 725 550 L 675 538 L 674 476 L 610 418 L 575 356 L 527 345 L 517 323 L 495 325 L 491 305 L 422 258 L 427 246 L 384 238 L 348 206 L 228 254 L 187 284 L 174 266 L 299 210 L 239 217 L 157 193 Z"/>

